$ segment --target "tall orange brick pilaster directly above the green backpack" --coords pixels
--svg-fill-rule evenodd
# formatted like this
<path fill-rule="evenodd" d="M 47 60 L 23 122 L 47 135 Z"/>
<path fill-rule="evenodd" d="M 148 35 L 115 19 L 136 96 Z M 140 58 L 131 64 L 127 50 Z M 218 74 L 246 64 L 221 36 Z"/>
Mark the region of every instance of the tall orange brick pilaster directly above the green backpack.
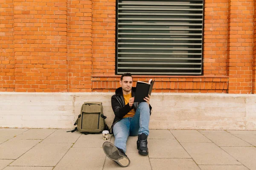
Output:
<path fill-rule="evenodd" d="M 92 1 L 68 0 L 68 89 L 90 92 L 92 87 Z"/>

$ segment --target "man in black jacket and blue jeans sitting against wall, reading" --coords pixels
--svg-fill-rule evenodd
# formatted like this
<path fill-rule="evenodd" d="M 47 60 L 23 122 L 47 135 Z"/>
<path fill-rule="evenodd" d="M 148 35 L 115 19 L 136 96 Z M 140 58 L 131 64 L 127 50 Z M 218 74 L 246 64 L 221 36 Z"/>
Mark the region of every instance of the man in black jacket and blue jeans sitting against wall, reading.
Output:
<path fill-rule="evenodd" d="M 148 155 L 147 138 L 151 105 L 149 95 L 144 98 L 145 102 L 134 103 L 136 88 L 132 87 L 133 79 L 130 73 L 123 74 L 119 83 L 121 87 L 117 88 L 116 94 L 111 97 L 115 113 L 111 129 L 115 142 L 105 142 L 103 150 L 108 158 L 122 167 L 127 167 L 130 164 L 130 159 L 125 155 L 128 136 L 138 135 L 138 152 L 141 155 Z"/>

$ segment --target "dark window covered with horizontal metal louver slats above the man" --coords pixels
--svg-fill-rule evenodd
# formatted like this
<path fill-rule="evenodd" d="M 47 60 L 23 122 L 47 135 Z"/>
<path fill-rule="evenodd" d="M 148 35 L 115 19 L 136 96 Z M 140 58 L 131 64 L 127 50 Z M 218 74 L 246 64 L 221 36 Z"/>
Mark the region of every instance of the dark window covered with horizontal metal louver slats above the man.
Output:
<path fill-rule="evenodd" d="M 201 75 L 203 0 L 118 0 L 116 74 Z"/>

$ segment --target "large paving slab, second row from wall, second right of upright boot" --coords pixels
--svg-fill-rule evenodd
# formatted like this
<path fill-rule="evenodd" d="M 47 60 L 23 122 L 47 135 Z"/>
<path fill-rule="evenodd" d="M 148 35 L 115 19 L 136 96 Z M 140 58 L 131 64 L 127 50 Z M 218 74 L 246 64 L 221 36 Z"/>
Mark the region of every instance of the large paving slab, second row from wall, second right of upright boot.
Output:
<path fill-rule="evenodd" d="M 214 143 L 180 143 L 197 164 L 241 164 Z"/>

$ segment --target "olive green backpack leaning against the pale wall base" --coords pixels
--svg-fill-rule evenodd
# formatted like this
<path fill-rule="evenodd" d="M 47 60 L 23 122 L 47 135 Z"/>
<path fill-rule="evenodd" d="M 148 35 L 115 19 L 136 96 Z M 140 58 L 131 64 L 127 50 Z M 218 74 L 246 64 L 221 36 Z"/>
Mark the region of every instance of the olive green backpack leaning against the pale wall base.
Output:
<path fill-rule="evenodd" d="M 103 114 L 102 102 L 84 102 L 81 107 L 81 113 L 74 125 L 77 127 L 74 130 L 67 132 L 75 132 L 78 130 L 81 133 L 101 133 L 103 130 L 109 130 L 105 122 L 107 117 Z"/>

